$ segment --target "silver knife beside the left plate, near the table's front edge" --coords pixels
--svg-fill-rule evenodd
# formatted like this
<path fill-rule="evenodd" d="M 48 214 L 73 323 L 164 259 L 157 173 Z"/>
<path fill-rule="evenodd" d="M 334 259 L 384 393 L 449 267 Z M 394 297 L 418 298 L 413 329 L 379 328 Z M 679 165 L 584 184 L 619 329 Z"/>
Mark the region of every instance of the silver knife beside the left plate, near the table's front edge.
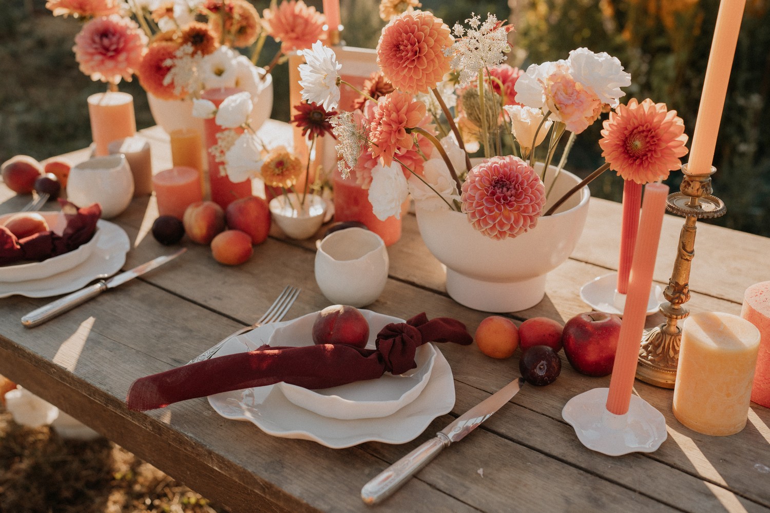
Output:
<path fill-rule="evenodd" d="M 95 298 L 103 291 L 122 285 L 126 283 L 126 281 L 136 278 L 139 275 L 143 275 L 147 271 L 152 271 L 152 269 L 165 264 L 167 261 L 173 260 L 186 251 L 187 248 L 182 248 L 171 255 L 153 258 L 152 260 L 139 265 L 139 267 L 132 268 L 130 271 L 122 272 L 108 280 L 99 280 L 93 285 L 81 288 L 79 291 L 72 292 L 72 294 L 65 295 L 63 298 L 59 298 L 48 305 L 30 311 L 27 315 L 22 317 L 22 325 L 25 325 L 27 328 L 34 328 L 35 326 L 42 325 L 45 321 L 49 321 L 58 315 L 62 315 L 65 311 L 72 310 L 72 308 L 75 308 L 77 305 L 82 305 L 85 301 Z"/>

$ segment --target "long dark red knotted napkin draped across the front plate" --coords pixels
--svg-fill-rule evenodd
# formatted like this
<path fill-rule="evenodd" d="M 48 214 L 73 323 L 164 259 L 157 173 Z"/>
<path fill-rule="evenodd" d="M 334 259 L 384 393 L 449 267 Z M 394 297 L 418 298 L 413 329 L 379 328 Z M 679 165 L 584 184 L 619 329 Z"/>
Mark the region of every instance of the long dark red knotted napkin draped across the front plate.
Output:
<path fill-rule="evenodd" d="M 406 322 L 390 323 L 377 334 L 376 349 L 345 344 L 273 348 L 220 356 L 184 365 L 134 381 L 126 396 L 132 410 L 164 408 L 176 401 L 224 391 L 273 385 L 285 381 L 304 388 L 329 388 L 390 371 L 402 374 L 417 367 L 417 347 L 426 342 L 468 345 L 473 338 L 453 318 L 429 321 L 422 313 Z"/>

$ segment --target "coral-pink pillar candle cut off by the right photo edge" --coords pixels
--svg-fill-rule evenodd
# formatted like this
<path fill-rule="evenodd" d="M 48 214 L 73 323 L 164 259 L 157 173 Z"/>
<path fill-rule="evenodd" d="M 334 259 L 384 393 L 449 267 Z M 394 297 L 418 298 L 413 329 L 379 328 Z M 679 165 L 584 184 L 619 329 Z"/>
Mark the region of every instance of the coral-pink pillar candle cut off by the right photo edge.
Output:
<path fill-rule="evenodd" d="M 752 401 L 770 408 L 770 281 L 755 283 L 746 289 L 741 317 L 755 325 L 761 336 Z"/>

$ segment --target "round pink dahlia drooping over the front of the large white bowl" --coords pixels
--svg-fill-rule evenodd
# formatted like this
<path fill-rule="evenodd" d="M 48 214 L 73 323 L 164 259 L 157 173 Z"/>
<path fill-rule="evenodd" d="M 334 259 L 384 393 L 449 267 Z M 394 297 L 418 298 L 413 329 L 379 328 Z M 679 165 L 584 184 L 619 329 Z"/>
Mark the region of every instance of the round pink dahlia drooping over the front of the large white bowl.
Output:
<path fill-rule="evenodd" d="M 468 172 L 460 201 L 470 224 L 499 240 L 537 225 L 545 205 L 545 187 L 521 158 L 492 157 Z"/>

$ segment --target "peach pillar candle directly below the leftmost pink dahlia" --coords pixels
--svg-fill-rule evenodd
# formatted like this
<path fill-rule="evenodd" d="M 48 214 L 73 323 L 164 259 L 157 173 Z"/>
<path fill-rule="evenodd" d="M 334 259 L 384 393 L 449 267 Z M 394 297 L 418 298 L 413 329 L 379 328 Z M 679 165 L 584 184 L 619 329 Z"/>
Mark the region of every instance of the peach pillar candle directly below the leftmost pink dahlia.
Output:
<path fill-rule="evenodd" d="M 90 95 L 88 102 L 95 156 L 109 155 L 110 142 L 136 134 L 132 95 L 118 91 L 99 92 Z"/>

